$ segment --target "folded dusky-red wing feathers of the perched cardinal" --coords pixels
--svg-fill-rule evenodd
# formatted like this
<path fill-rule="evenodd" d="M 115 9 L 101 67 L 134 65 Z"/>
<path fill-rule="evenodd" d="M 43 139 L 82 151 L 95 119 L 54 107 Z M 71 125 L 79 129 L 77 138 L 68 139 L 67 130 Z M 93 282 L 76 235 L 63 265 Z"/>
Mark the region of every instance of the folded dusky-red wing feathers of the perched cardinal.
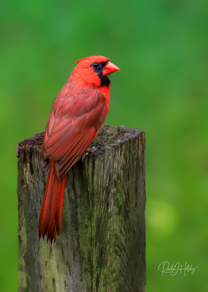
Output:
<path fill-rule="evenodd" d="M 76 117 L 65 115 L 57 121 L 52 111 L 45 129 L 42 147 L 42 167 L 47 167 L 46 159 L 55 160 L 59 178 L 84 154 L 89 144 L 99 132 L 107 115 L 105 97 L 100 95 L 96 107 L 90 112 Z"/>

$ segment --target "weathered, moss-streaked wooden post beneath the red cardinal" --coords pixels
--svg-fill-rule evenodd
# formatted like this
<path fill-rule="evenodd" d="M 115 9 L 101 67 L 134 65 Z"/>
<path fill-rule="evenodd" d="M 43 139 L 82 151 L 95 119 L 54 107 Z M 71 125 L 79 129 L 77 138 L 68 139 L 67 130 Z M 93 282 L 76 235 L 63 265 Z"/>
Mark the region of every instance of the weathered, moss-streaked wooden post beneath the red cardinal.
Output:
<path fill-rule="evenodd" d="M 145 135 L 105 125 L 66 180 L 60 238 L 38 241 L 43 132 L 17 145 L 19 292 L 143 292 Z M 90 146 L 90 147 L 91 147 Z"/>

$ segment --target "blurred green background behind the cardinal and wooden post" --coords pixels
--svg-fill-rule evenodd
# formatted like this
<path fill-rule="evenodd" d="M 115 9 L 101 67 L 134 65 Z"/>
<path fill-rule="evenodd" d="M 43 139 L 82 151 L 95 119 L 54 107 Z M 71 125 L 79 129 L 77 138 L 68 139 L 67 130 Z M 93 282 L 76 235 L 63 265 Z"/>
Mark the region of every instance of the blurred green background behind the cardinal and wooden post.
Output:
<path fill-rule="evenodd" d="M 15 145 L 45 129 L 73 62 L 104 55 L 121 69 L 106 122 L 146 133 L 146 292 L 207 291 L 207 1 L 4 0 L 0 22 L 0 290 L 18 284 Z"/>

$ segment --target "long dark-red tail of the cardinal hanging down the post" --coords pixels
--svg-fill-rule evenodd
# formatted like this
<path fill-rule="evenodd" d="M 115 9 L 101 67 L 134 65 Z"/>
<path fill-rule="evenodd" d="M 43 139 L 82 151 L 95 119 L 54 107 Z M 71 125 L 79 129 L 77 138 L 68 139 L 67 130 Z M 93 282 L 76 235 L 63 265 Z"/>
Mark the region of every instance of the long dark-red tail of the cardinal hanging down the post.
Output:
<path fill-rule="evenodd" d="M 56 173 L 56 161 L 50 161 L 50 168 L 39 217 L 39 240 L 47 234 L 47 242 L 56 240 L 61 234 L 62 208 L 66 174 L 59 180 Z"/>

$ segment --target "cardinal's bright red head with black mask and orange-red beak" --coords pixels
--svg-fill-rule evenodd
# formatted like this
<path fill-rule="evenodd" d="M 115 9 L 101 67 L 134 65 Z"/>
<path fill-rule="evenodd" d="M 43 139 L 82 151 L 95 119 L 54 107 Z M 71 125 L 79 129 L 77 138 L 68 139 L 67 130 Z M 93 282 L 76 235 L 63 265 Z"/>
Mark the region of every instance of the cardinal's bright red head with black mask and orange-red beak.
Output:
<path fill-rule="evenodd" d="M 75 63 L 79 64 L 73 69 L 69 80 L 73 79 L 77 84 L 85 84 L 90 87 L 109 87 L 108 74 L 120 70 L 104 56 L 90 56 Z"/>

